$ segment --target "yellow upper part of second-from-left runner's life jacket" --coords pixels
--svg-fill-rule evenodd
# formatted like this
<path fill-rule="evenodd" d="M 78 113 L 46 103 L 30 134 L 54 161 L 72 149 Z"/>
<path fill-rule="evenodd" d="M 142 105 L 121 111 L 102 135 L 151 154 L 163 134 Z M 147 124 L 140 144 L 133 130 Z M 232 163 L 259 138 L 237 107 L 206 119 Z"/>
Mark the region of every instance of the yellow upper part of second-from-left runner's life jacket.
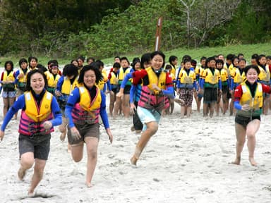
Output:
<path fill-rule="evenodd" d="M 93 101 L 90 101 L 90 93 L 84 85 L 80 84 L 78 88 L 80 93 L 79 105 L 82 109 L 84 109 L 85 111 L 94 111 L 96 109 L 100 109 L 102 103 L 102 96 L 99 87 L 96 86 L 97 94 Z"/>

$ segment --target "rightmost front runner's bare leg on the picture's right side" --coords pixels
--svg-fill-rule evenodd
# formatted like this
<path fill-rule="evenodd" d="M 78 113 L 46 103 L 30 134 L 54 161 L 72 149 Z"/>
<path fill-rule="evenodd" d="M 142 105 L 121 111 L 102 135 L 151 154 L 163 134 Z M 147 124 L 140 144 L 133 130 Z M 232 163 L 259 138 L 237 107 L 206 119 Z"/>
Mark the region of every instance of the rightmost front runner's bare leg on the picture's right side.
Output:
<path fill-rule="evenodd" d="M 257 163 L 254 160 L 254 151 L 255 151 L 255 145 L 256 145 L 256 139 L 255 134 L 260 128 L 260 121 L 258 119 L 255 119 L 248 123 L 246 126 L 246 135 L 248 137 L 248 160 L 251 162 L 252 166 L 256 166 Z"/>

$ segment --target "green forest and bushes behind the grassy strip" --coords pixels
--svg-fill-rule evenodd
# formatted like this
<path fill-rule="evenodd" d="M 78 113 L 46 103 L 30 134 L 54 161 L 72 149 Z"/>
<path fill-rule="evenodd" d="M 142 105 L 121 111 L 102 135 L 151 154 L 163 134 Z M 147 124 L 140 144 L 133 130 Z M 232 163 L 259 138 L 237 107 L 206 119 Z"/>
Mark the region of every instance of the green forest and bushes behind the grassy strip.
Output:
<path fill-rule="evenodd" d="M 160 16 L 162 51 L 271 42 L 264 0 L 1 0 L 0 56 L 143 54 Z"/>

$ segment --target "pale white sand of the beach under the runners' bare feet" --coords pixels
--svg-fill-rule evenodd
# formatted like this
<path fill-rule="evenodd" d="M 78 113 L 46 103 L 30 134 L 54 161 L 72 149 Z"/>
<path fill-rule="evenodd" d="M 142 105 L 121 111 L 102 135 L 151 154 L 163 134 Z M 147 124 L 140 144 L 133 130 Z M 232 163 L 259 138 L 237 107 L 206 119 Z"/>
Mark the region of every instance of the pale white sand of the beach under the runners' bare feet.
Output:
<path fill-rule="evenodd" d="M 91 188 L 84 185 L 86 154 L 73 163 L 55 128 L 35 198 L 26 196 L 32 169 L 23 182 L 17 178 L 18 121 L 11 121 L 0 143 L 0 202 L 270 202 L 271 116 L 262 116 L 256 136 L 257 167 L 249 164 L 246 146 L 241 166 L 228 164 L 235 156 L 233 116 L 179 116 L 176 105 L 173 115 L 162 118 L 136 168 L 130 158 L 140 135 L 130 131 L 131 119 L 110 118 L 114 142 L 102 127 Z"/>

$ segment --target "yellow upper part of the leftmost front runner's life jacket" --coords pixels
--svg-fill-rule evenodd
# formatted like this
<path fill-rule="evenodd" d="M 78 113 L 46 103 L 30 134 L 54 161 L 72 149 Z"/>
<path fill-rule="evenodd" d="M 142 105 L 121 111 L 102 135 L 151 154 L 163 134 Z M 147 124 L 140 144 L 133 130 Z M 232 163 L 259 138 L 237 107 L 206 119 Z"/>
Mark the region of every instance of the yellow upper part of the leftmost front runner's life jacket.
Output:
<path fill-rule="evenodd" d="M 25 92 L 25 113 L 35 122 L 44 121 L 52 113 L 51 103 L 53 95 L 49 92 L 45 92 L 40 101 L 40 106 L 37 106 L 35 98 L 31 92 Z"/>

